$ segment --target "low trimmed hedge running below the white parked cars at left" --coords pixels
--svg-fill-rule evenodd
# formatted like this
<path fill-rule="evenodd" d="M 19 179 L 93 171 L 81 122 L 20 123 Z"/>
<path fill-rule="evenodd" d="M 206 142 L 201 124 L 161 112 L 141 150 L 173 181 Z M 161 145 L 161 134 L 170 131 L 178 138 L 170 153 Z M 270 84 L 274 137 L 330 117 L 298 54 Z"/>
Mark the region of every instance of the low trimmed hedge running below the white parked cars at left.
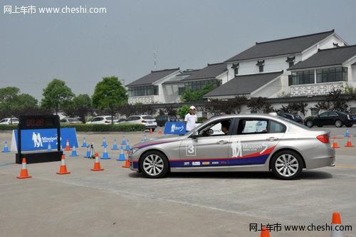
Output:
<path fill-rule="evenodd" d="M 137 132 L 145 131 L 145 125 L 61 125 L 63 128 L 75 127 L 77 132 Z"/>

